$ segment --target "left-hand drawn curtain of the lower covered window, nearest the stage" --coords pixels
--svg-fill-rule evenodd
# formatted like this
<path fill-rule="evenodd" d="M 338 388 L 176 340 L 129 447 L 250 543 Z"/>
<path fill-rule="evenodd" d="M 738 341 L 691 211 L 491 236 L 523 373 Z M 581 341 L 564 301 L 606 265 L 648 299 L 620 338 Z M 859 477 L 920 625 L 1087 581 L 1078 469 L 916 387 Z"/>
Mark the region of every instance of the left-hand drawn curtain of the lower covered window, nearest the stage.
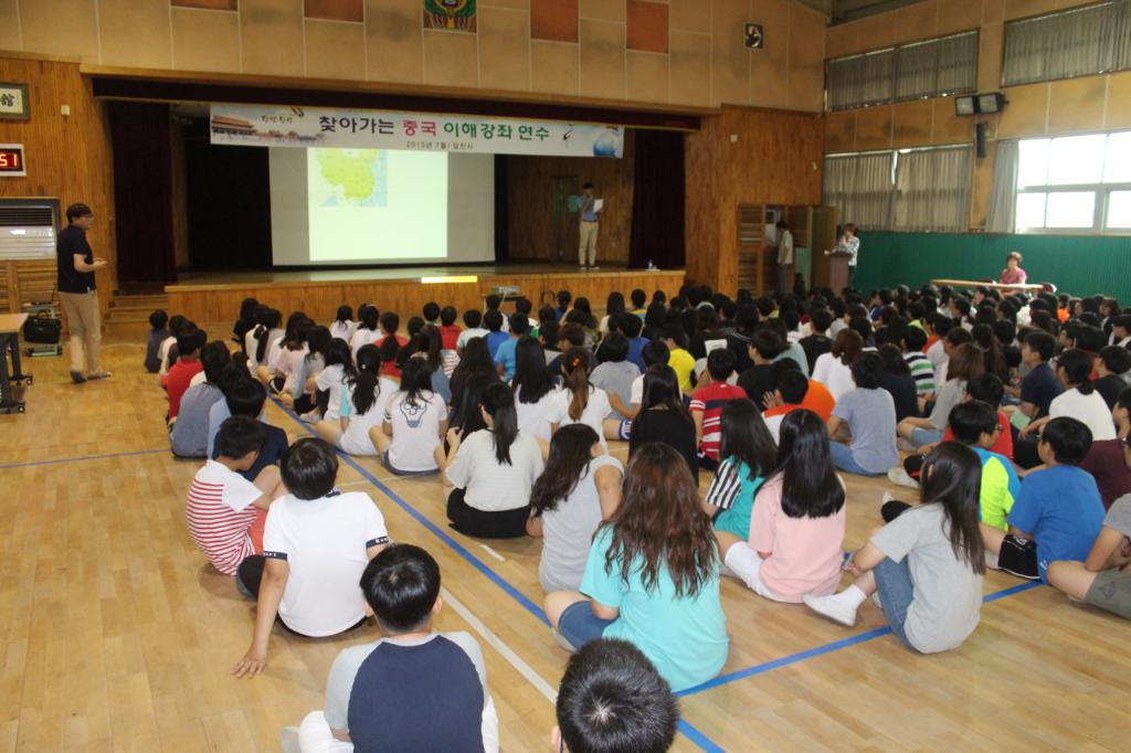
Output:
<path fill-rule="evenodd" d="M 891 223 L 891 163 L 895 153 L 824 158 L 824 205 L 840 208 L 841 222 L 866 230 Z"/>

